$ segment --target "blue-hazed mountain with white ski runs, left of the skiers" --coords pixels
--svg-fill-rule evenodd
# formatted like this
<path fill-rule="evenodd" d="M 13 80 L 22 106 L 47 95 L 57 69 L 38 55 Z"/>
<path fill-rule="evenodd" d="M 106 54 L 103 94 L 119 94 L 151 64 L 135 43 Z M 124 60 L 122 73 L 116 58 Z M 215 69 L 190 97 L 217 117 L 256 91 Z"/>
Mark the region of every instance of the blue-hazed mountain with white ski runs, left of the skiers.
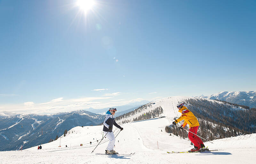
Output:
<path fill-rule="evenodd" d="M 105 116 L 79 110 L 51 115 L 2 115 L 0 117 L 0 151 L 29 148 L 47 143 L 76 126 L 99 125 Z"/>

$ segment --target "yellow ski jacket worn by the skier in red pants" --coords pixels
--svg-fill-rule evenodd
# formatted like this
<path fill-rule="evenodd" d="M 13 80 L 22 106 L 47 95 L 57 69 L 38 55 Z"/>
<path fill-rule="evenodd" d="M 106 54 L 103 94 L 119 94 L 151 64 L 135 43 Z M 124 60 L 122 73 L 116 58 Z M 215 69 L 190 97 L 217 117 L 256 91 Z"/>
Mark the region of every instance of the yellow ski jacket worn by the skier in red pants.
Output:
<path fill-rule="evenodd" d="M 187 107 L 183 106 L 179 112 L 182 114 L 178 119 L 175 120 L 175 123 L 184 120 L 184 123 L 181 125 L 182 127 L 185 127 L 187 124 L 189 125 L 189 128 L 200 126 L 196 116 L 194 116 L 194 114 L 189 111 Z"/>

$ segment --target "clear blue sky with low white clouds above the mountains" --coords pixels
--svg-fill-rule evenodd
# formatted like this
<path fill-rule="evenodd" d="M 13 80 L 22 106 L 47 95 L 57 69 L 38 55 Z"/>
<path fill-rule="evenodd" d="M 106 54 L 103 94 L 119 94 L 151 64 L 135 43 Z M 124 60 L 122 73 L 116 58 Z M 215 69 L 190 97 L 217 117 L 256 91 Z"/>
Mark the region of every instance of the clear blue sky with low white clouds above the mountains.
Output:
<path fill-rule="evenodd" d="M 0 1 L 0 111 L 255 90 L 255 1 L 76 2 Z"/>

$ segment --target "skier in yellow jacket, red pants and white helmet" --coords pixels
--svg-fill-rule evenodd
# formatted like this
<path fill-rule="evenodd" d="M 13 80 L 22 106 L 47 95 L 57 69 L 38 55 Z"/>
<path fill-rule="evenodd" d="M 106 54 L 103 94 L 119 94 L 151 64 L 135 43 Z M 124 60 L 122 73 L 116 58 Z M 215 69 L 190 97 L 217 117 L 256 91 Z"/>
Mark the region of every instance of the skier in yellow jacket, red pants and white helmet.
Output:
<path fill-rule="evenodd" d="M 188 138 L 194 144 L 194 148 L 189 150 L 189 152 L 195 152 L 205 149 L 203 141 L 195 135 L 197 134 L 198 127 L 200 126 L 197 118 L 191 111 L 188 110 L 183 102 L 178 103 L 176 106 L 179 109 L 179 112 L 182 114 L 178 119 L 174 120 L 172 124 L 176 125 L 178 122 L 184 120 L 184 123 L 181 126 L 184 128 L 187 124 L 189 125 L 190 132 L 188 132 Z"/>

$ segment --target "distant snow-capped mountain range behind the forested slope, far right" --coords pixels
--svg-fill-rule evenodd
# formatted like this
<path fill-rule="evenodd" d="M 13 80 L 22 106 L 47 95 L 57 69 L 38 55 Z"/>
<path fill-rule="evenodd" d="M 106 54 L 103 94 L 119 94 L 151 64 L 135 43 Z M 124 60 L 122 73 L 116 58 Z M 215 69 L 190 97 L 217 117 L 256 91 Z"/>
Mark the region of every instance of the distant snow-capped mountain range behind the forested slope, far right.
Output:
<path fill-rule="evenodd" d="M 198 98 L 207 98 L 212 100 L 222 100 L 230 103 L 236 103 L 240 105 L 246 105 L 250 108 L 256 108 L 256 91 L 239 91 L 228 92 L 222 91 L 211 96 L 197 96 Z"/>

